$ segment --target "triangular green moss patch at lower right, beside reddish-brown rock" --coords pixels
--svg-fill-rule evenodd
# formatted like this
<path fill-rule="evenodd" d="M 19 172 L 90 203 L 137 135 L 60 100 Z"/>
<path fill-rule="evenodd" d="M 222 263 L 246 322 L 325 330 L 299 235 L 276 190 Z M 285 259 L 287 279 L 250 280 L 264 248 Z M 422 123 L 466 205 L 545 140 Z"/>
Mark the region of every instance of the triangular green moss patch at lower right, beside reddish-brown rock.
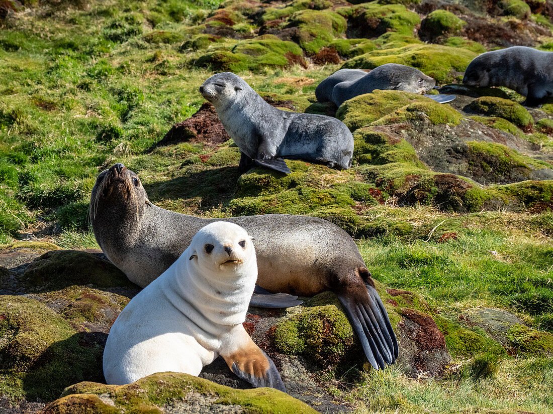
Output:
<path fill-rule="evenodd" d="M 503 357 L 508 356 L 507 351 L 491 338 L 469 331 L 457 322 L 452 322 L 439 315 L 436 315 L 434 320 L 444 334 L 447 351 L 452 357 L 472 357 L 472 355 L 484 352 L 492 352 Z"/>

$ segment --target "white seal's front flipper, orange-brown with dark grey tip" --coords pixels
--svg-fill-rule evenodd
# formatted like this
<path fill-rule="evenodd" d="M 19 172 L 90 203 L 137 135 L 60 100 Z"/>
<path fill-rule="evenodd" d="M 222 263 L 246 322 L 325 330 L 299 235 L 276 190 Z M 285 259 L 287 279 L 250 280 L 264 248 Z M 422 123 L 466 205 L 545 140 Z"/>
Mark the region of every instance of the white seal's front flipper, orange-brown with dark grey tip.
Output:
<path fill-rule="evenodd" d="M 228 368 L 254 387 L 270 387 L 286 392 L 273 360 L 252 341 L 242 325 L 239 327 L 241 331 L 231 334 L 233 342 L 238 345 L 236 352 L 228 355 L 220 352 Z"/>

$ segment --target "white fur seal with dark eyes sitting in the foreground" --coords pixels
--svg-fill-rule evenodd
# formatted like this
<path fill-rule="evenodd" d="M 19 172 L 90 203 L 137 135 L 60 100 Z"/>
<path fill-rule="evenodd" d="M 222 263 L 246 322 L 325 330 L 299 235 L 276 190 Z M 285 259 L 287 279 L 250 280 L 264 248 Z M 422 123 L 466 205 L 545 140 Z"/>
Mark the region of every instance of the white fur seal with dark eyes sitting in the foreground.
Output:
<path fill-rule="evenodd" d="M 163 371 L 197 376 L 221 355 L 252 385 L 285 391 L 273 361 L 242 325 L 255 279 L 246 230 L 225 221 L 205 226 L 113 323 L 103 353 L 107 383 L 130 384 Z"/>

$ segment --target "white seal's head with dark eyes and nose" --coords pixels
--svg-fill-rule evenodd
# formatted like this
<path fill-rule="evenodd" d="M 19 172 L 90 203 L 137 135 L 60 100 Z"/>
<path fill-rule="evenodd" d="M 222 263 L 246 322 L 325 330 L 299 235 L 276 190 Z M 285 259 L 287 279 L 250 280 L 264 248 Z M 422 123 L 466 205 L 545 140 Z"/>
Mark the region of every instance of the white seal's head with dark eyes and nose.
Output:
<path fill-rule="evenodd" d="M 255 263 L 252 241 L 252 237 L 242 227 L 216 221 L 202 228 L 192 238 L 189 260 L 197 261 L 198 266 L 208 270 L 208 273 L 240 276 Z"/>

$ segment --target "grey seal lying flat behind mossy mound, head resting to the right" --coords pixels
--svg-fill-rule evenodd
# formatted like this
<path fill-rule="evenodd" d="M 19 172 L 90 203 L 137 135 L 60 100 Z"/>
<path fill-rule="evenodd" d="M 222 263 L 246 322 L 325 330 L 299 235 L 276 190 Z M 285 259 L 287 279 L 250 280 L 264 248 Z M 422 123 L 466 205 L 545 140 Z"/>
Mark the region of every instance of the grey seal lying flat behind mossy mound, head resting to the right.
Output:
<path fill-rule="evenodd" d="M 340 107 L 346 100 L 371 93 L 374 89 L 425 93 L 436 85 L 434 79 L 418 69 L 398 63 L 386 63 L 369 73 L 362 72 L 359 69 L 340 69 L 317 86 L 315 96 L 318 100 L 319 97 L 330 100 Z"/>

